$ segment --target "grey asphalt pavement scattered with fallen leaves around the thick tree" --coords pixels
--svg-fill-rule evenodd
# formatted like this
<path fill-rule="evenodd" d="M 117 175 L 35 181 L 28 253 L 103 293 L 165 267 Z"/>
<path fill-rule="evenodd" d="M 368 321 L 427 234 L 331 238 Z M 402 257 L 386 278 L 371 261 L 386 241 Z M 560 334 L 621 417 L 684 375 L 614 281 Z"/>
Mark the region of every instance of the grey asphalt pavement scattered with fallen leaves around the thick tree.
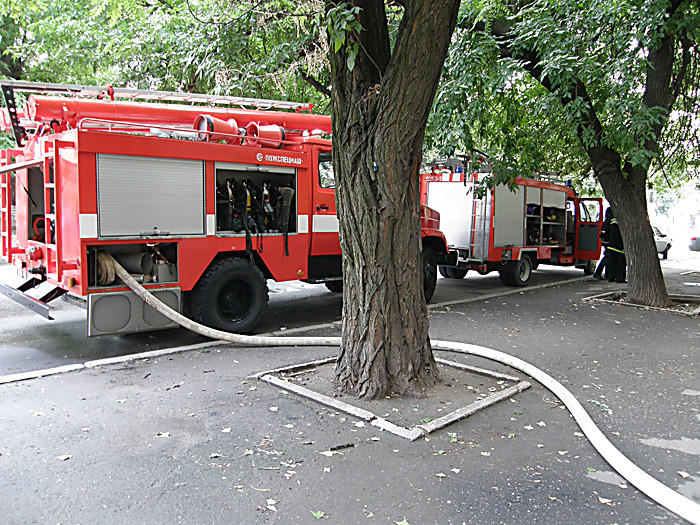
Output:
<path fill-rule="evenodd" d="M 671 293 L 699 295 L 687 266 L 664 265 Z M 446 301 L 431 334 L 540 367 L 640 468 L 700 502 L 699 319 L 584 301 L 616 286 Z M 0 385 L 0 522 L 684 523 L 534 382 L 409 442 L 249 378 L 332 354 L 226 344 Z"/>

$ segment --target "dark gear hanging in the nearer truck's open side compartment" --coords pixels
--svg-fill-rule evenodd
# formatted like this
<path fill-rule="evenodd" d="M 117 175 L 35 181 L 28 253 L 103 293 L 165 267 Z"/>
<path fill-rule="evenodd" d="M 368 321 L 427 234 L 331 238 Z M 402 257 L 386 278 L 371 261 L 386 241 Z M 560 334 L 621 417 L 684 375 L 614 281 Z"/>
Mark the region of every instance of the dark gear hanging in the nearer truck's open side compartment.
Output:
<path fill-rule="evenodd" d="M 296 231 L 293 174 L 216 171 L 216 230 L 231 234 Z"/>

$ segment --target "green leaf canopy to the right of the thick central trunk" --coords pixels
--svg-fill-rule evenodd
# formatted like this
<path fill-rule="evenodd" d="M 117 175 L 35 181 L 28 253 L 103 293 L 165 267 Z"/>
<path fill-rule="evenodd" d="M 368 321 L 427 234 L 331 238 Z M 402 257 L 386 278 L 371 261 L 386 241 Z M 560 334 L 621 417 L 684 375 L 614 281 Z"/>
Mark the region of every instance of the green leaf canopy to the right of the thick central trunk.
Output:
<path fill-rule="evenodd" d="M 590 186 L 584 147 L 597 145 L 619 152 L 628 166 L 652 166 L 667 177 L 696 175 L 700 13 L 697 2 L 686 1 L 669 18 L 667 7 L 662 0 L 463 0 L 429 147 L 442 154 L 482 149 L 502 164 L 503 180 L 544 170 Z M 550 89 L 525 63 L 499 58 L 503 42 L 491 31 L 496 23 L 509 28 L 510 56 L 536 52 Z M 671 115 L 644 100 L 649 54 L 668 31 L 695 46 L 679 97 L 684 110 Z M 677 57 L 679 72 L 680 51 Z M 570 97 L 577 81 L 590 102 Z M 586 126 L 590 104 L 603 126 L 599 136 Z M 659 124 L 664 133 L 657 150 L 649 143 Z"/>

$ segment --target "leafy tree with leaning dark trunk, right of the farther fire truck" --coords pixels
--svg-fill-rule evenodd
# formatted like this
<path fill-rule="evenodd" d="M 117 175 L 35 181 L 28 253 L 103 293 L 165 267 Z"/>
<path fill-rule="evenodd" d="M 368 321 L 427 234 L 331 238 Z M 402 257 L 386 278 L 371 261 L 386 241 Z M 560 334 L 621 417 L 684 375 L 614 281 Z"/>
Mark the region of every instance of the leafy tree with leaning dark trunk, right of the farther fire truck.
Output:
<path fill-rule="evenodd" d="M 491 72 L 498 108 L 507 109 L 502 120 L 506 126 L 500 130 L 508 131 L 501 139 L 505 150 L 513 153 L 523 145 L 522 136 L 542 136 L 544 130 L 551 135 L 531 141 L 531 151 L 558 145 L 569 150 L 569 159 L 584 155 L 581 164 L 592 168 L 620 223 L 629 267 L 628 299 L 668 305 L 646 189 L 650 170 L 663 172 L 670 162 L 683 168 L 689 158 L 697 159 L 697 125 L 691 124 L 698 109 L 698 2 L 530 0 L 486 4 L 494 9 L 484 5 L 463 3 L 459 42 L 476 60 L 467 64 L 457 57 L 453 65 L 466 74 L 447 91 L 473 100 L 464 86 L 483 87 L 480 76 Z M 457 49 L 459 45 L 455 53 Z M 511 107 L 503 93 L 533 112 Z M 518 125 L 511 125 L 512 120 Z M 537 129 L 537 123 L 544 126 Z M 499 132 L 490 131 L 491 136 Z M 530 155 L 530 160 L 536 158 Z M 543 168 L 547 166 L 539 166 Z"/>

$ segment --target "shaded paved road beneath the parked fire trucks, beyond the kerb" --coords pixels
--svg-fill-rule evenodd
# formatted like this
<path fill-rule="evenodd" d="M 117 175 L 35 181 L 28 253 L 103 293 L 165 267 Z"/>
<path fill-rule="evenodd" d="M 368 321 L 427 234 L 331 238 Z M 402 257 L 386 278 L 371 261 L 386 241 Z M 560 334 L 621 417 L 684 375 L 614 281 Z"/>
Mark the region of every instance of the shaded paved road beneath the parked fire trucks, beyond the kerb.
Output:
<path fill-rule="evenodd" d="M 672 252 L 672 258 L 662 264 L 668 268 L 695 267 L 700 271 L 700 253 L 677 249 Z M 575 268 L 540 266 L 528 286 L 552 285 L 582 276 L 583 272 Z M 14 267 L 5 263 L 0 263 L 0 281 L 15 286 L 21 282 Z M 340 320 L 340 294 L 329 292 L 322 285 L 302 282 L 269 281 L 268 284 L 270 306 L 258 328 L 259 333 L 293 332 Z M 462 280 L 440 278 L 431 307 L 435 309 L 520 291 L 504 286 L 497 273 L 480 276 L 470 272 Z M 693 288 L 687 293 L 700 294 L 700 290 Z M 184 329 L 87 338 L 84 309 L 60 299 L 52 305 L 55 320 L 47 321 L 0 295 L 0 376 L 206 341 Z"/>

